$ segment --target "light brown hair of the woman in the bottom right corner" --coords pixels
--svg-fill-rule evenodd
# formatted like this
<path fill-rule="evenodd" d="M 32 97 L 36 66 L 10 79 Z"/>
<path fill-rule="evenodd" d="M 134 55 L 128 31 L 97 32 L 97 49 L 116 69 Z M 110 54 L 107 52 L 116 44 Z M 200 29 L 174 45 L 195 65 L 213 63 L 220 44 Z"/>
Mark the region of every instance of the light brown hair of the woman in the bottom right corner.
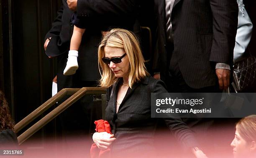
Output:
<path fill-rule="evenodd" d="M 246 142 L 256 141 L 256 115 L 242 118 L 236 123 L 236 130 Z"/>

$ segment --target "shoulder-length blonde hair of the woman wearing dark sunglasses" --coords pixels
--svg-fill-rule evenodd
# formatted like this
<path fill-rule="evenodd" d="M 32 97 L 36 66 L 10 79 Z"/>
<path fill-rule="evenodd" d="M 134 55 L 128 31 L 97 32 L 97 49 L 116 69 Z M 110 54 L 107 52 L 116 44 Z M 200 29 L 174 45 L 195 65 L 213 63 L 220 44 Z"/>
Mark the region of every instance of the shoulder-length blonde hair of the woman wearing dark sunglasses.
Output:
<path fill-rule="evenodd" d="M 132 88 L 134 83 L 141 81 L 148 75 L 143 55 L 141 53 L 140 44 L 133 32 L 123 29 L 112 29 L 103 37 L 98 49 L 98 64 L 101 74 L 100 86 L 110 87 L 118 80 L 109 68 L 108 64 L 105 64 L 102 61 L 102 58 L 105 57 L 105 46 L 116 47 L 125 51 L 130 62 L 130 72 L 128 77 L 130 88 Z"/>

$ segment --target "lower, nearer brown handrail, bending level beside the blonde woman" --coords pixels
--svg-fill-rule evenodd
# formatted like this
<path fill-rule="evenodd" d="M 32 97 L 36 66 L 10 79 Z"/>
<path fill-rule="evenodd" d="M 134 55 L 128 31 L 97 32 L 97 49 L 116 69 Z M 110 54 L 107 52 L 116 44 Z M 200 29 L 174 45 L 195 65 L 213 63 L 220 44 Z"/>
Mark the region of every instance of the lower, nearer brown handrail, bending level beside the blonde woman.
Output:
<path fill-rule="evenodd" d="M 75 89 L 74 91 L 76 91 L 76 90 L 77 89 Z M 83 87 L 83 88 L 79 89 L 75 94 L 70 96 L 66 101 L 64 101 L 62 104 L 57 106 L 49 114 L 44 116 L 41 120 L 39 120 L 33 126 L 28 128 L 28 130 L 26 130 L 24 133 L 22 133 L 20 136 L 18 136 L 19 145 L 22 144 L 24 141 L 26 141 L 29 137 L 31 137 L 39 129 L 44 127 L 47 123 L 49 123 L 56 116 L 61 114 L 61 112 L 66 110 L 69 106 L 74 104 L 74 102 L 76 102 L 77 100 L 82 98 L 82 96 L 84 96 L 85 94 L 105 94 L 105 93 L 106 93 L 106 89 L 105 88 L 100 88 L 100 87 Z"/>

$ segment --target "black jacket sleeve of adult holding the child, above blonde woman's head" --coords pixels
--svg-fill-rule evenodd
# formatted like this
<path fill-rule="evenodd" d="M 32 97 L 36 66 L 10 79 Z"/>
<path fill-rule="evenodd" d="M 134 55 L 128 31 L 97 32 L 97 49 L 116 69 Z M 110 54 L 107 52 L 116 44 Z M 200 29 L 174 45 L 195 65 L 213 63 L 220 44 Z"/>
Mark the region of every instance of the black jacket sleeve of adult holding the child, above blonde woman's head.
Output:
<path fill-rule="evenodd" d="M 76 26 L 82 28 L 100 27 L 133 30 L 139 15 L 141 0 L 78 0 Z M 78 23 L 78 24 L 77 24 Z"/>

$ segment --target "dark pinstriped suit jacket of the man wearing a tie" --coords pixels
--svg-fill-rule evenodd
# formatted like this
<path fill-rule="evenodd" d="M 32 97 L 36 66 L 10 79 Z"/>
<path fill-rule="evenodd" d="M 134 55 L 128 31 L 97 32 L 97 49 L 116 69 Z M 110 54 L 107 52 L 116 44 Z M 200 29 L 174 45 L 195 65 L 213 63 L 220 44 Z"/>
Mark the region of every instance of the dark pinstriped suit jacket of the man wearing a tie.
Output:
<path fill-rule="evenodd" d="M 157 17 L 156 69 L 164 79 L 169 66 L 166 52 L 165 0 L 154 0 Z M 175 0 L 172 9 L 174 54 L 185 82 L 192 88 L 218 83 L 217 62 L 233 66 L 238 24 L 236 0 Z M 161 64 L 161 66 L 160 66 Z"/>

